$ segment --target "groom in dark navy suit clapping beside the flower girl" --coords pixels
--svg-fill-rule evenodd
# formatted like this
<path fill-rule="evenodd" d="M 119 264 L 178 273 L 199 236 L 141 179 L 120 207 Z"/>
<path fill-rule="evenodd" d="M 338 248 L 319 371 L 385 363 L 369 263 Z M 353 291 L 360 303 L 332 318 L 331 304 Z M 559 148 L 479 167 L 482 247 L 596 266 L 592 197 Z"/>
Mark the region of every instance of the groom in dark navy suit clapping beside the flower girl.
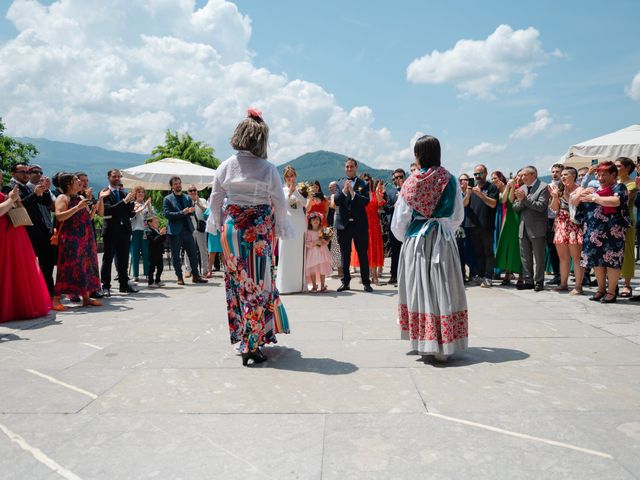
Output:
<path fill-rule="evenodd" d="M 369 224 L 365 207 L 369 203 L 369 186 L 367 182 L 356 176 L 358 162 L 353 158 L 347 158 L 344 162 L 346 178 L 338 182 L 338 189 L 333 197 L 336 204 L 336 214 L 333 227 L 337 230 L 338 243 L 342 255 L 342 285 L 338 291 L 349 290 L 351 273 L 351 242 L 356 247 L 360 260 L 360 277 L 365 292 L 372 292 L 369 278 Z"/>

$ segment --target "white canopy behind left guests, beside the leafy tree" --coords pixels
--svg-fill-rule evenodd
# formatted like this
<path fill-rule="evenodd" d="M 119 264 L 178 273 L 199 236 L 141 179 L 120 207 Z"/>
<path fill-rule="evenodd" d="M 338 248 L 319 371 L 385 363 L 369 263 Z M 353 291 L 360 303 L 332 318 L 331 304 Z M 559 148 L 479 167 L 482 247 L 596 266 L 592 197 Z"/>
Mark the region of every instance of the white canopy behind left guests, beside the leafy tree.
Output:
<path fill-rule="evenodd" d="M 216 171 L 178 158 L 163 158 L 157 162 L 144 163 L 122 170 L 122 184 L 126 188 L 136 185 L 146 190 L 170 190 L 169 179 L 174 176 L 182 180 L 182 188 L 194 184 L 198 190 L 211 186 Z"/>

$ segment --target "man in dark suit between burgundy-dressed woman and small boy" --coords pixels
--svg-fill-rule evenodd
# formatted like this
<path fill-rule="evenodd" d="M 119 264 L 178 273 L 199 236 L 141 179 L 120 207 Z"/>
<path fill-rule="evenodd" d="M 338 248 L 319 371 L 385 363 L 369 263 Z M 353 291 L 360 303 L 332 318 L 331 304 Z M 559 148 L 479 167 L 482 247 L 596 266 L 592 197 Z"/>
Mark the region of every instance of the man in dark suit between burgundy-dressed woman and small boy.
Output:
<path fill-rule="evenodd" d="M 104 199 L 104 229 L 102 239 L 104 254 L 100 279 L 105 296 L 111 296 L 111 265 L 116 256 L 116 268 L 120 293 L 136 293 L 138 290 L 129 285 L 129 245 L 131 243 L 131 217 L 135 207 L 133 192 L 125 193 L 120 189 L 120 170 L 109 170 L 109 190 L 111 194 Z"/>

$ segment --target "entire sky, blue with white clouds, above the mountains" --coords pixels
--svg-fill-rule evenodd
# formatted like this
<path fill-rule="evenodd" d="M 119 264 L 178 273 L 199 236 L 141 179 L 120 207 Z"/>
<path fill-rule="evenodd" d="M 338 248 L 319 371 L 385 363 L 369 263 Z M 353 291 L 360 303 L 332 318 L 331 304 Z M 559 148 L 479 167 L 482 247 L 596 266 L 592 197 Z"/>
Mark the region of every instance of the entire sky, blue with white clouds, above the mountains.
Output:
<path fill-rule="evenodd" d="M 430 133 L 454 171 L 510 171 L 640 122 L 638 1 L 39 3 L 1 4 L 0 115 L 25 136 L 145 152 L 181 129 L 225 157 L 251 103 L 276 163 L 406 166 Z"/>

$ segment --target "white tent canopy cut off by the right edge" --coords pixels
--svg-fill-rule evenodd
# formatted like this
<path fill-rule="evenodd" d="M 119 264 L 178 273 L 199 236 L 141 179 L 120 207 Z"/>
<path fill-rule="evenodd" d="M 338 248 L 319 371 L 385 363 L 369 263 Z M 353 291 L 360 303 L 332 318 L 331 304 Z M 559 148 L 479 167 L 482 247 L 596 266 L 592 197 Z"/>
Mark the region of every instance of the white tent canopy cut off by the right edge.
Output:
<path fill-rule="evenodd" d="M 633 161 L 640 157 L 640 125 L 631 125 L 617 132 L 573 145 L 562 157 L 561 163 L 580 168 L 589 166 L 593 159 L 602 163 L 618 157 L 629 157 Z"/>

